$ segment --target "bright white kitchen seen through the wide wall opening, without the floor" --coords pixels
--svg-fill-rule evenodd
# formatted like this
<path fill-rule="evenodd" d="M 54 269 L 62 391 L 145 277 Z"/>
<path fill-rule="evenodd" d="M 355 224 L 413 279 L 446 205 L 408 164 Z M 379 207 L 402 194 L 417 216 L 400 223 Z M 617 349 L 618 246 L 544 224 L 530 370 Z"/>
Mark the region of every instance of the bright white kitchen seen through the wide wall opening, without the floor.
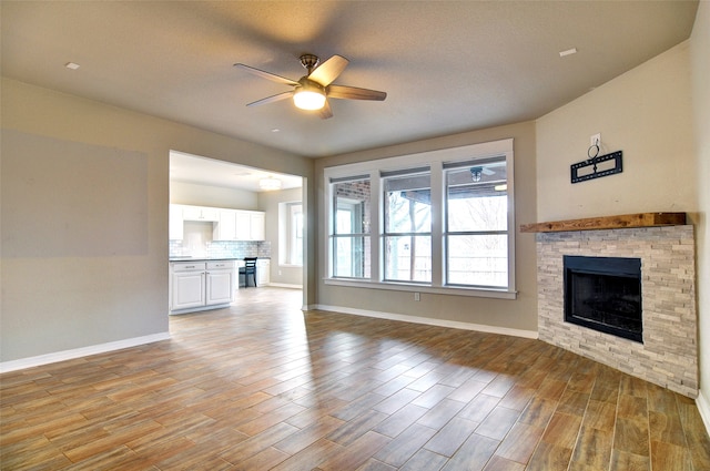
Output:
<path fill-rule="evenodd" d="M 301 289 L 302 187 L 300 176 L 172 151 L 170 314 L 230 306 L 246 287 Z"/>

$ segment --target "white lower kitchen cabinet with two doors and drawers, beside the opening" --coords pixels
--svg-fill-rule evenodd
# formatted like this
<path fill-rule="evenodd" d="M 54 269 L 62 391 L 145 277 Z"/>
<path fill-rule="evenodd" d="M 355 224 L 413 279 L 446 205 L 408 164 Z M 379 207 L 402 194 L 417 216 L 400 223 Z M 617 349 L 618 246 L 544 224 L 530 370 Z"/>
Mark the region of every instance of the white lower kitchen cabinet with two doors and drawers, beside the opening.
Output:
<path fill-rule="evenodd" d="M 216 309 L 234 301 L 234 262 L 173 262 L 170 265 L 170 314 Z"/>

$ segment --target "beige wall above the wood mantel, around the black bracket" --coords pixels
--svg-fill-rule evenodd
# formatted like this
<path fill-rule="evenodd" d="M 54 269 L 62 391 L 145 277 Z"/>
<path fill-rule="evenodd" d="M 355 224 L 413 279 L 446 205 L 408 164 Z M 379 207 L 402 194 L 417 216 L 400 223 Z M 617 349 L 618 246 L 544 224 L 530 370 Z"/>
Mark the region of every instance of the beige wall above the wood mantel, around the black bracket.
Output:
<path fill-rule="evenodd" d="M 569 166 L 623 151 L 623 172 L 570 184 Z M 538 222 L 697 212 L 689 43 L 658 55 L 537 121 Z"/>

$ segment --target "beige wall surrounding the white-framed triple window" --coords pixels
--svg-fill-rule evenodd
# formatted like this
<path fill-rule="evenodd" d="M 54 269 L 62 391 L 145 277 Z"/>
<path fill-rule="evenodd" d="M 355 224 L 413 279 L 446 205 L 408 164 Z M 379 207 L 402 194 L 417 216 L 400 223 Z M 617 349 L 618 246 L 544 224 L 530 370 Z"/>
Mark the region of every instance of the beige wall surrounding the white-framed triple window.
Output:
<path fill-rule="evenodd" d="M 318 304 L 373 313 L 484 325 L 490 326 L 493 329 L 535 332 L 537 330 L 536 259 L 535 238 L 530 234 L 517 234 L 516 238 L 516 284 L 519 293 L 515 300 L 423 293 L 420 300 L 415 301 L 409 291 L 333 286 L 323 281 L 326 275 L 323 267 L 323 246 L 326 239 L 321 215 L 323 214 L 323 170 L 325 167 L 509 137 L 514 139 L 517 227 L 521 223 L 536 221 L 535 123 L 532 122 L 318 158 L 315 168 L 318 185 L 318 227 L 316 234 Z"/>

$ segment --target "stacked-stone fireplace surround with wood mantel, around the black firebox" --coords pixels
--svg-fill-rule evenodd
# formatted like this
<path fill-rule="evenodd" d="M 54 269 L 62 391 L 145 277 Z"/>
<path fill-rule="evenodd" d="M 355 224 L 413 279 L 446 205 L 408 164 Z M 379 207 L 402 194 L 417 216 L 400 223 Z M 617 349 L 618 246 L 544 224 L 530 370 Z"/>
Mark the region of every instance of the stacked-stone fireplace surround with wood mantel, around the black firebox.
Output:
<path fill-rule="evenodd" d="M 657 217 L 667 214 L 682 218 Z M 537 233 L 540 340 L 696 398 L 696 253 L 684 219 L 645 213 L 521 226 Z M 564 255 L 641 259 L 643 344 L 565 321 Z"/>

